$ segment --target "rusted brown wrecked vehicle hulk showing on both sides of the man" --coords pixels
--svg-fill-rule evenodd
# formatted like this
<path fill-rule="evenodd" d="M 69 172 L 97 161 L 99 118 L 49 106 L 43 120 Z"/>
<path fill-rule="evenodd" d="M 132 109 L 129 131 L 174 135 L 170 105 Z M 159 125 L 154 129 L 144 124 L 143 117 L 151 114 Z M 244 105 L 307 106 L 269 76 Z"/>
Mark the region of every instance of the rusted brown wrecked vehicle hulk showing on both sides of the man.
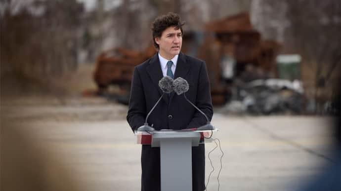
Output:
<path fill-rule="evenodd" d="M 213 105 L 223 105 L 231 97 L 233 79 L 241 76 L 246 66 L 252 64 L 263 71 L 275 73 L 274 60 L 279 44 L 262 40 L 253 29 L 248 13 L 241 13 L 213 21 L 203 32 L 185 31 L 181 51 L 206 61 Z M 125 96 L 128 103 L 130 83 L 134 66 L 155 54 L 150 44 L 142 52 L 114 48 L 100 54 L 94 71 L 98 92 L 106 92 L 108 86 L 119 87 L 115 93 Z M 230 76 L 224 76 L 224 58 L 233 58 Z M 231 82 L 232 81 L 232 82 Z"/>

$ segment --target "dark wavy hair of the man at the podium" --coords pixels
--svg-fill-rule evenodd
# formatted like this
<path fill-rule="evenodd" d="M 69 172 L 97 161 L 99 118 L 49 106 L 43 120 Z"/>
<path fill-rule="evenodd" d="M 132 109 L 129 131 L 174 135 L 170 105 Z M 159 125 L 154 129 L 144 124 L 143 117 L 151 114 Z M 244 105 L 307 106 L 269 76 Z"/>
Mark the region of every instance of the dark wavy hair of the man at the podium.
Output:
<path fill-rule="evenodd" d="M 180 29 L 183 36 L 182 25 L 184 24 L 185 23 L 181 21 L 180 16 L 173 12 L 156 17 L 152 27 L 154 47 L 159 49 L 159 44 L 156 43 L 155 38 L 161 37 L 162 33 L 169 27 L 175 27 L 176 30 Z"/>

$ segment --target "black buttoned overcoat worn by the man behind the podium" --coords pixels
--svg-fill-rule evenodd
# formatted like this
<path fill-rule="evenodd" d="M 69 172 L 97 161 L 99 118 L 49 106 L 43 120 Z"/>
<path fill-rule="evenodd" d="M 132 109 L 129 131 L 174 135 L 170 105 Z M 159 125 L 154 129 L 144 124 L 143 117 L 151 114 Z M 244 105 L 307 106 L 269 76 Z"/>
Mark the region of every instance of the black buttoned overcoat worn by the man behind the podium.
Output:
<path fill-rule="evenodd" d="M 162 95 L 159 80 L 163 77 L 158 53 L 135 67 L 131 82 L 128 123 L 132 130 L 144 124 L 145 117 Z M 174 79 L 182 77 L 189 83 L 186 97 L 211 120 L 213 115 L 210 82 L 204 61 L 180 52 Z M 149 125 L 155 129 L 197 128 L 207 123 L 183 95 L 165 94 L 149 115 Z M 142 145 L 141 191 L 160 191 L 160 148 Z M 193 191 L 205 190 L 205 146 L 192 147 Z"/>

